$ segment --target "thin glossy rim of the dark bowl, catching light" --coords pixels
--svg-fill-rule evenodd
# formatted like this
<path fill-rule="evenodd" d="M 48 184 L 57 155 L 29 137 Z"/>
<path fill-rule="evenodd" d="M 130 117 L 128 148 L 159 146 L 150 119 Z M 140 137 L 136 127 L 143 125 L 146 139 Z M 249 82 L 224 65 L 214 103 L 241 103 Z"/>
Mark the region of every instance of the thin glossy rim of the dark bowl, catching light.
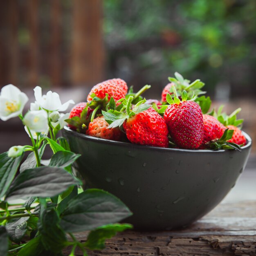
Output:
<path fill-rule="evenodd" d="M 72 129 L 70 129 L 67 126 L 64 126 L 63 128 L 65 131 L 74 134 L 78 137 L 81 137 L 83 139 L 88 139 L 91 141 L 97 141 L 99 143 L 104 143 L 104 144 L 115 144 L 115 145 L 121 145 L 121 146 L 133 146 L 135 148 L 146 148 L 146 149 L 155 149 L 155 150 L 166 150 L 166 151 L 175 151 L 175 152 L 193 152 L 193 153 L 198 153 L 198 152 L 215 152 L 215 153 L 221 153 L 221 152 L 228 152 L 230 149 L 220 149 L 220 150 L 212 150 L 212 149 L 183 149 L 183 148 L 161 148 L 161 147 L 155 147 L 155 146 L 146 146 L 146 145 L 137 145 L 137 144 L 132 144 L 129 142 L 123 142 L 123 141 L 115 141 L 115 140 L 110 140 L 110 139 L 101 139 L 101 138 L 97 138 L 97 137 L 92 137 L 90 135 L 86 135 L 80 132 L 76 132 Z M 252 146 L 252 139 L 251 137 L 244 131 L 243 135 L 245 135 L 245 138 L 247 140 L 247 144 L 245 146 L 242 146 L 242 150 L 249 148 Z"/>

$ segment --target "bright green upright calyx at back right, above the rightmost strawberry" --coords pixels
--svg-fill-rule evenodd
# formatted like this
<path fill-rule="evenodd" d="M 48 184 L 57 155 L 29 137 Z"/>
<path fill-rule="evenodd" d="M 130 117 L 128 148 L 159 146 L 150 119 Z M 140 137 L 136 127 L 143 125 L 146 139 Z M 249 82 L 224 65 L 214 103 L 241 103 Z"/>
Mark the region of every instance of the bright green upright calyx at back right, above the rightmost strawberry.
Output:
<path fill-rule="evenodd" d="M 213 112 L 213 116 L 220 121 L 224 126 L 233 125 L 237 127 L 242 127 L 244 119 L 237 119 L 237 114 L 242 110 L 238 108 L 234 110 L 230 115 L 227 115 L 225 112 L 222 112 L 224 105 L 221 105 L 217 112 Z"/>

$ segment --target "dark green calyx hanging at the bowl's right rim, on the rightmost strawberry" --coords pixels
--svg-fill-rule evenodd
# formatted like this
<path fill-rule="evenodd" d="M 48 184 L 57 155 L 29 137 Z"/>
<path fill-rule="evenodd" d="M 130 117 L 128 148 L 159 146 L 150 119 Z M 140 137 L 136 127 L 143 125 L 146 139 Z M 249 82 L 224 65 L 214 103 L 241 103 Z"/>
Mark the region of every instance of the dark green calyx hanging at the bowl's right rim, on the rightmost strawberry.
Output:
<path fill-rule="evenodd" d="M 234 130 L 229 130 L 227 128 L 220 139 L 217 139 L 216 141 L 210 141 L 208 146 L 211 149 L 216 149 L 216 150 L 233 148 L 241 152 L 242 148 L 238 144 L 233 142 L 228 142 L 228 140 L 232 138 L 233 133 L 234 133 Z"/>

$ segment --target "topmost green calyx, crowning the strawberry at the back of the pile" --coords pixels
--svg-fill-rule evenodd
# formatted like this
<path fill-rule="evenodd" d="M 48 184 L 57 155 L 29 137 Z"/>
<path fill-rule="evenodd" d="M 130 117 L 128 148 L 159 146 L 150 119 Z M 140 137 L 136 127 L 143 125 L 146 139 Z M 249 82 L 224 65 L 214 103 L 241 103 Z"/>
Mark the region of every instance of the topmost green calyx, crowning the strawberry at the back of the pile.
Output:
<path fill-rule="evenodd" d="M 184 79 L 178 72 L 174 73 L 175 77 L 168 77 L 171 83 L 175 84 L 177 95 L 182 96 L 182 92 L 185 90 L 188 94 L 187 99 L 192 99 L 194 95 L 205 94 L 201 88 L 204 87 L 204 83 L 200 79 L 196 79 L 192 83 L 189 80 Z M 173 93 L 172 88 L 170 89 L 170 94 Z"/>

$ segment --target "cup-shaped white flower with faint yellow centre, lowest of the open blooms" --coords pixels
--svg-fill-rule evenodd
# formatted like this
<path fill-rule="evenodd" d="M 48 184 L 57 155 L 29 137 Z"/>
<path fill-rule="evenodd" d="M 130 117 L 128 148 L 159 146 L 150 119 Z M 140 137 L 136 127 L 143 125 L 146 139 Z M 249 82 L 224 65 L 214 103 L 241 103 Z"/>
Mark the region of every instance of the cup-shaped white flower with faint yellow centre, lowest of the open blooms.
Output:
<path fill-rule="evenodd" d="M 23 124 L 35 132 L 45 132 L 48 128 L 48 117 L 44 110 L 29 111 L 23 119 Z"/>

